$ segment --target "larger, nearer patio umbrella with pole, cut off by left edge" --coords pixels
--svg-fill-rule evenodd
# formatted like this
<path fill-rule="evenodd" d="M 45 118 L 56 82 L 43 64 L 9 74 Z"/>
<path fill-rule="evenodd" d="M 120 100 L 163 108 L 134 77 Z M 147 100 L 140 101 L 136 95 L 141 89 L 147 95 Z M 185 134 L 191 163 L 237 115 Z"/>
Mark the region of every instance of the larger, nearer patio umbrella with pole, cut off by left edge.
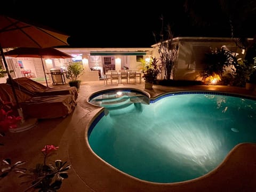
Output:
<path fill-rule="evenodd" d="M 13 95 L 17 103 L 19 115 L 22 116 L 22 109 L 20 108 L 17 94 L 15 93 L 14 86 L 12 84 L 12 77 L 5 60 L 3 47 L 54 47 L 61 45 L 68 45 L 67 38 L 69 36 L 57 33 L 52 30 L 47 30 L 34 25 L 30 25 L 26 22 L 19 21 L 0 15 L 0 52 L 4 62 L 4 66 L 10 79 Z"/>

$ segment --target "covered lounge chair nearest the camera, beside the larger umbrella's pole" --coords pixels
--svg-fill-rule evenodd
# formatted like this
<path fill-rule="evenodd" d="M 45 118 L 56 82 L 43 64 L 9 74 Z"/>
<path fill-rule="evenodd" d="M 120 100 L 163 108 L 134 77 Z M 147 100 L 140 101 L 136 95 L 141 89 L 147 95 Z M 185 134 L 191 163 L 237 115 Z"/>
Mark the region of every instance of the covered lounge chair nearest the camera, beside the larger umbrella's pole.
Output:
<path fill-rule="evenodd" d="M 19 89 L 15 88 L 14 90 L 25 119 L 66 117 L 76 107 L 76 102 L 71 94 L 31 97 Z M 0 84 L 0 99 L 5 102 L 12 102 L 13 109 L 17 109 L 17 102 L 14 99 L 11 85 Z"/>

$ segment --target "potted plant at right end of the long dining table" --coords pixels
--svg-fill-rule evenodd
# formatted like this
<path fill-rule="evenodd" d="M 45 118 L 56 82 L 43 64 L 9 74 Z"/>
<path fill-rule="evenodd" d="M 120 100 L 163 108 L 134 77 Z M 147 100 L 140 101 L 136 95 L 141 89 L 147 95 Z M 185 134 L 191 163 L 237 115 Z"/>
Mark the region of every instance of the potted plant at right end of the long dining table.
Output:
<path fill-rule="evenodd" d="M 162 65 L 158 63 L 157 58 L 151 58 L 149 62 L 141 60 L 142 78 L 145 80 L 145 89 L 152 89 L 156 82 L 157 76 L 161 73 Z"/>

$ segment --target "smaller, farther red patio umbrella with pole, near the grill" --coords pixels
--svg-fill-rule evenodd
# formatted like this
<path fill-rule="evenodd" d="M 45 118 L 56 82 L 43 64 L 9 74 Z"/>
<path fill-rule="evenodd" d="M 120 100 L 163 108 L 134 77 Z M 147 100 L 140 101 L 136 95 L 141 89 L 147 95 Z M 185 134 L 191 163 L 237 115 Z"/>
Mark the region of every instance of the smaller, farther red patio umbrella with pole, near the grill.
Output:
<path fill-rule="evenodd" d="M 72 58 L 71 55 L 66 54 L 64 52 L 61 52 L 57 49 L 54 49 L 53 47 L 48 48 L 34 48 L 34 47 L 18 47 L 17 49 L 7 51 L 4 53 L 5 56 L 8 57 L 31 57 L 31 58 L 41 58 L 42 64 L 43 64 L 43 58 L 50 59 L 50 58 L 56 58 L 56 59 L 66 59 L 66 58 Z M 48 86 L 46 75 L 45 75 L 45 69 L 43 64 L 43 70 L 44 70 L 44 77 L 46 81 L 46 85 Z"/>

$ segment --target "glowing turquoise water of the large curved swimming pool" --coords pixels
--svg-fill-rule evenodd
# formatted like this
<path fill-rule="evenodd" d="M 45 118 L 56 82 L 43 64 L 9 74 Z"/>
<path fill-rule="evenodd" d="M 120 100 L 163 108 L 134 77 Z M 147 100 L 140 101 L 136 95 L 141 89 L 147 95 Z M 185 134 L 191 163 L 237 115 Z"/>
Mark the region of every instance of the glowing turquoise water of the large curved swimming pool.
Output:
<path fill-rule="evenodd" d="M 92 150 L 135 178 L 171 183 L 198 178 L 238 143 L 256 142 L 255 100 L 208 93 L 169 96 L 149 105 L 106 108 L 89 131 Z"/>

